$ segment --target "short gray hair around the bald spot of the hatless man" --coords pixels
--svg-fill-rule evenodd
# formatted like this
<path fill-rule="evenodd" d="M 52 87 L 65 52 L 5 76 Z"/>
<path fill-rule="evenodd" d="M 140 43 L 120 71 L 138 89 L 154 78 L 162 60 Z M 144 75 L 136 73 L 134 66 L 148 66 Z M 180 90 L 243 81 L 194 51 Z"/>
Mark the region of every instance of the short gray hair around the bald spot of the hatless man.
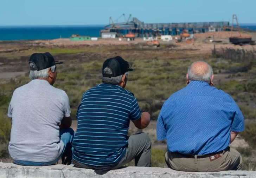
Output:
<path fill-rule="evenodd" d="M 196 62 L 204 62 L 204 61 L 196 61 Z M 196 62 L 193 62 L 196 63 Z M 206 81 L 206 82 L 210 82 L 211 81 L 211 77 L 213 75 L 213 71 L 212 71 L 212 67 L 207 63 L 207 62 L 204 62 L 205 64 L 207 64 L 208 66 L 208 71 L 206 71 L 205 74 L 197 74 L 197 73 L 194 73 L 192 70 L 191 70 L 191 67 L 193 66 L 193 64 L 191 64 L 189 67 L 188 67 L 188 71 L 187 71 L 187 74 L 188 74 L 188 79 L 189 81 L 194 81 L 194 80 L 199 80 L 199 81 Z"/>

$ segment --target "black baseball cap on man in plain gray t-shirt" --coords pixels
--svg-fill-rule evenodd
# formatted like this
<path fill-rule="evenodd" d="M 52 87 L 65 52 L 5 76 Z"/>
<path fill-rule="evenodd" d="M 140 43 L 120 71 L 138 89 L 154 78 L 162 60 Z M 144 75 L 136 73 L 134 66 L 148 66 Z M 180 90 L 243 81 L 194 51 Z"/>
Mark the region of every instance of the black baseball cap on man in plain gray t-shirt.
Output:
<path fill-rule="evenodd" d="M 41 71 L 56 64 L 63 64 L 63 62 L 54 60 L 53 56 L 48 52 L 32 54 L 28 64 L 30 63 L 33 63 L 36 66 L 34 68 L 30 67 L 31 71 Z"/>

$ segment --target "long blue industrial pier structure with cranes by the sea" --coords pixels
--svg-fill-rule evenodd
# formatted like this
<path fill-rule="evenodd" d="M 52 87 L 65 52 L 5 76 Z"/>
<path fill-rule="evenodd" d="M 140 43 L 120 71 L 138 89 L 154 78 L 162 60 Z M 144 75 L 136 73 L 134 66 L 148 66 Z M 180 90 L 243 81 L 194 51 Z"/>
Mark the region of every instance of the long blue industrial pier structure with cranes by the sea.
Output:
<path fill-rule="evenodd" d="M 124 22 L 117 22 L 124 17 Z M 204 33 L 208 31 L 226 31 L 229 28 L 228 21 L 220 22 L 188 22 L 188 23 L 152 23 L 147 24 L 130 14 L 126 19 L 122 14 L 116 22 L 109 18 L 109 25 L 105 26 L 101 33 L 115 32 L 117 37 L 128 33 L 135 34 L 135 37 L 155 37 L 160 35 L 180 35 L 186 30 L 188 33 Z"/>

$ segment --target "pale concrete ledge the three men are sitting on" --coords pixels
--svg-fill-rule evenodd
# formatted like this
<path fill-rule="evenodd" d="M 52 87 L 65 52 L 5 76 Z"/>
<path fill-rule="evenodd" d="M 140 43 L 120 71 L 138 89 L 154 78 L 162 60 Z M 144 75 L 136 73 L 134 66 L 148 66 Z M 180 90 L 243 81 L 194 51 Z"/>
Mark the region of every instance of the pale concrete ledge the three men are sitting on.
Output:
<path fill-rule="evenodd" d="M 0 178 L 256 178 L 256 171 L 223 171 L 223 172 L 180 172 L 159 167 L 125 167 L 111 170 L 103 175 L 94 170 L 81 169 L 72 165 L 54 166 L 19 166 L 0 162 Z"/>

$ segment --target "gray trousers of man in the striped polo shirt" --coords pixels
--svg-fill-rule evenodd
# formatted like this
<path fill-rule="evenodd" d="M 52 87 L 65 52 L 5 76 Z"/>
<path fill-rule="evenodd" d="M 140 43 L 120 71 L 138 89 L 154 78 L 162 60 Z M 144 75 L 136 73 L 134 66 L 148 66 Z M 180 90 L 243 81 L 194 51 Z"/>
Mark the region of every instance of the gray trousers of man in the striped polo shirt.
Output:
<path fill-rule="evenodd" d="M 137 133 L 129 137 L 128 147 L 125 156 L 119 163 L 110 169 L 117 169 L 132 160 L 135 160 L 135 166 L 150 167 L 151 166 L 151 139 L 146 133 Z M 75 166 L 86 169 L 96 169 L 91 165 L 85 165 L 72 160 Z"/>

